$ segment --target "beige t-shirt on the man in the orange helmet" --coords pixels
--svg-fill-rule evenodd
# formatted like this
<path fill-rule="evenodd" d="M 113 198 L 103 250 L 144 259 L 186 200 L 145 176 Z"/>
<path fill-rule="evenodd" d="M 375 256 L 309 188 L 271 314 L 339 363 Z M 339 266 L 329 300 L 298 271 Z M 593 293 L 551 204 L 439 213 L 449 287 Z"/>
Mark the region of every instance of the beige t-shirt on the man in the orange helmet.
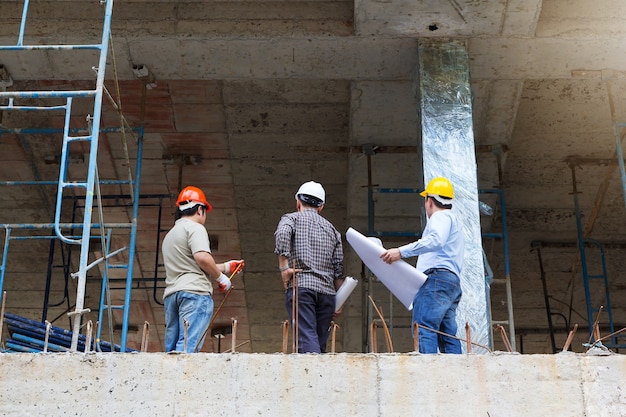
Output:
<path fill-rule="evenodd" d="M 185 217 L 176 220 L 162 244 L 166 285 L 164 299 L 177 291 L 213 294 L 210 277 L 193 257 L 200 251 L 211 253 L 209 235 L 204 226 Z"/>

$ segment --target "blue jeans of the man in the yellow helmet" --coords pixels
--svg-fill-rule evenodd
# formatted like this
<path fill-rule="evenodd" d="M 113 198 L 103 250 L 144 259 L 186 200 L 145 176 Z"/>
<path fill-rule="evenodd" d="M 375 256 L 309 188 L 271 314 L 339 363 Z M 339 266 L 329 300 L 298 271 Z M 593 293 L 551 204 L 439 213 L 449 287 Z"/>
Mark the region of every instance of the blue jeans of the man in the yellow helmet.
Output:
<path fill-rule="evenodd" d="M 461 353 L 461 342 L 421 326 L 456 336 L 456 309 L 461 300 L 459 277 L 445 269 L 425 271 L 428 279 L 413 300 L 413 321 L 420 325 L 420 353 Z"/>

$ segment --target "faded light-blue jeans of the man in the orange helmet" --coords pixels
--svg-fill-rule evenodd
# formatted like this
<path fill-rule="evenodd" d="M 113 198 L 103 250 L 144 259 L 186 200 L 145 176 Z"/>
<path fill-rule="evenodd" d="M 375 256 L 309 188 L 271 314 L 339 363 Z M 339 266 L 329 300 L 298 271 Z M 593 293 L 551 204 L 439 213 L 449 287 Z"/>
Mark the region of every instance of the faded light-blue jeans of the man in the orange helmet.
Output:
<path fill-rule="evenodd" d="M 185 325 L 187 329 L 187 353 L 195 350 L 196 344 L 204 334 L 213 316 L 213 298 L 210 295 L 199 295 L 178 291 L 163 300 L 165 308 L 165 351 L 185 351 Z M 202 349 L 204 339 L 198 345 Z"/>

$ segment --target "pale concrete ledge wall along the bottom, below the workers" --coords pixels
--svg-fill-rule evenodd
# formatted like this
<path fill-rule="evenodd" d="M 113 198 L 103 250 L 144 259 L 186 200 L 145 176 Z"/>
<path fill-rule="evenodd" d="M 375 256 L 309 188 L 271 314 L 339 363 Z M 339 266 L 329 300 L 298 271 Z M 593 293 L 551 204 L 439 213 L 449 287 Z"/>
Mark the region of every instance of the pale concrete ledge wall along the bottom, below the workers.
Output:
<path fill-rule="evenodd" d="M 624 416 L 626 357 L 0 354 L 3 416 Z"/>

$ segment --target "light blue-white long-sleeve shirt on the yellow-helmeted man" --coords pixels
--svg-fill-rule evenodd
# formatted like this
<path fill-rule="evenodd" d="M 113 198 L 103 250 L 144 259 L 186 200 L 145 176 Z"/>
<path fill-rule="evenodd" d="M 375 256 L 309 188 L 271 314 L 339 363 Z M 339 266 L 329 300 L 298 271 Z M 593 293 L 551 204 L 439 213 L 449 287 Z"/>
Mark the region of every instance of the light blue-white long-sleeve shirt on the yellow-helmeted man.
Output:
<path fill-rule="evenodd" d="M 434 212 L 426 222 L 422 237 L 399 249 L 403 258 L 418 256 L 415 268 L 419 271 L 445 268 L 461 275 L 465 238 L 452 210 Z"/>

